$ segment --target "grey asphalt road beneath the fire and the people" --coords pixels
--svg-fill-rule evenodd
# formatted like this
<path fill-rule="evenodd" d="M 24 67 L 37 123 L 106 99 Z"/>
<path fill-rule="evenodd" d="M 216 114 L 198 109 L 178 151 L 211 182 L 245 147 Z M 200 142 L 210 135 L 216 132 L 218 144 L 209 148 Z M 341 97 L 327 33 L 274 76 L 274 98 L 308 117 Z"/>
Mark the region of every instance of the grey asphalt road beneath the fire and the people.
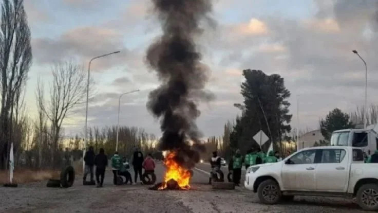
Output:
<path fill-rule="evenodd" d="M 0 212 L 364 212 L 344 199 L 298 197 L 290 203 L 263 205 L 256 194 L 243 187 L 211 189 L 206 184 L 210 165 L 198 164 L 196 168 L 192 188 L 187 191 L 153 191 L 141 184 L 114 186 L 110 170 L 106 171 L 103 188 L 83 186 L 81 175 L 67 189 L 47 188 L 46 182 L 0 187 Z M 222 170 L 228 172 L 226 167 Z M 131 173 L 134 179 L 134 172 Z M 156 175 L 161 182 L 164 175 L 161 163 L 157 165 Z"/>

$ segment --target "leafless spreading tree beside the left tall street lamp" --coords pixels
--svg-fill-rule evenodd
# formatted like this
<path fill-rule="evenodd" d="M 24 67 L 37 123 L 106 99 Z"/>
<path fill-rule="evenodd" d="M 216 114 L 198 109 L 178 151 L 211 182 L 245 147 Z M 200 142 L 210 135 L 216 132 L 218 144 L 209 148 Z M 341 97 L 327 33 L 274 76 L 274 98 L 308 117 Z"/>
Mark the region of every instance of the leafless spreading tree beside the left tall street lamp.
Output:
<path fill-rule="evenodd" d="M 45 103 L 41 81 L 37 85 L 37 101 L 51 122 L 51 157 L 54 162 L 63 120 L 72 115 L 75 107 L 83 103 L 86 97 L 86 81 L 82 67 L 73 61 L 55 64 L 51 73 L 53 80 L 50 84 L 50 101 Z"/>

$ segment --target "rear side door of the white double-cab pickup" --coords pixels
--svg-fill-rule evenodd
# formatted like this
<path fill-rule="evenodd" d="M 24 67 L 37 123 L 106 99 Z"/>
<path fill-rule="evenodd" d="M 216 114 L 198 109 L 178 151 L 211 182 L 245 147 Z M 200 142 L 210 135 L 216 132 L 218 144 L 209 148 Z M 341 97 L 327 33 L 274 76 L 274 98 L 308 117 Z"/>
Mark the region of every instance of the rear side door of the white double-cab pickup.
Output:
<path fill-rule="evenodd" d="M 348 186 L 349 156 L 345 149 L 323 149 L 315 170 L 317 191 L 345 192 Z"/>

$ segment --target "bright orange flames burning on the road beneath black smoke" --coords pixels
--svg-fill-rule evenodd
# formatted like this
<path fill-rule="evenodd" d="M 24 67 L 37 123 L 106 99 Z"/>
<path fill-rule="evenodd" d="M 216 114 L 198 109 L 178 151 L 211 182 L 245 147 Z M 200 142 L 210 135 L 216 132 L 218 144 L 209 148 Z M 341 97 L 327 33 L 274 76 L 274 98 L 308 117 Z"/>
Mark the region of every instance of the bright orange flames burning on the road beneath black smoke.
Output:
<path fill-rule="evenodd" d="M 164 176 L 164 183 L 159 188 L 159 190 L 165 189 L 167 187 L 166 183 L 173 179 L 177 182 L 181 189 L 189 189 L 189 180 L 191 178 L 191 172 L 188 169 L 181 167 L 175 161 L 175 152 L 170 152 L 164 159 L 164 164 L 166 167 L 166 172 Z"/>

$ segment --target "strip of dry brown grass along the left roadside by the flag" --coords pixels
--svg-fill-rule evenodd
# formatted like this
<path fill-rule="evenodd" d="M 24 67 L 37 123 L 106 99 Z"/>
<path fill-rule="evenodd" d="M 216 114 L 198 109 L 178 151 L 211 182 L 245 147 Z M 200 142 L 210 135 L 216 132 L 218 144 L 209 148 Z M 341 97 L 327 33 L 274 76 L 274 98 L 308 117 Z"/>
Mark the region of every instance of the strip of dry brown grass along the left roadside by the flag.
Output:
<path fill-rule="evenodd" d="M 45 181 L 48 179 L 59 179 L 60 171 L 53 170 L 30 170 L 20 169 L 13 173 L 13 182 L 25 184 L 32 182 Z M 8 182 L 8 171 L 0 171 L 0 184 Z"/>

